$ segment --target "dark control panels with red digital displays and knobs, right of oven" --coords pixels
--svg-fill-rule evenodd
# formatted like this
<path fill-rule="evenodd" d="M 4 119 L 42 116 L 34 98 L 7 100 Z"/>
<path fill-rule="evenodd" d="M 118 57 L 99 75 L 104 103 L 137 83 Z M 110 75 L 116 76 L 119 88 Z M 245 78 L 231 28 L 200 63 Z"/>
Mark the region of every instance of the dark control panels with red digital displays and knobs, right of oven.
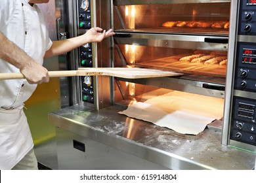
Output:
<path fill-rule="evenodd" d="M 244 148 L 244 144 L 256 146 L 256 1 L 240 1 L 239 8 L 237 26 L 242 39 L 236 42 L 230 139 Z"/>

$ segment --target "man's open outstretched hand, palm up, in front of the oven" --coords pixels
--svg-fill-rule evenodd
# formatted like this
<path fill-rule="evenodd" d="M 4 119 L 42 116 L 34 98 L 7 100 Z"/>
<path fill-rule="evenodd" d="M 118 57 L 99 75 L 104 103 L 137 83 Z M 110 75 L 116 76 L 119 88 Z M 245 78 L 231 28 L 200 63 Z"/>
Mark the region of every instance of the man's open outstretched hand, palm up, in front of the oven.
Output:
<path fill-rule="evenodd" d="M 102 32 L 103 31 L 103 32 Z M 101 42 L 104 38 L 115 35 L 112 29 L 108 31 L 103 30 L 100 27 L 93 27 L 89 29 L 83 36 L 85 37 L 85 42 Z"/>

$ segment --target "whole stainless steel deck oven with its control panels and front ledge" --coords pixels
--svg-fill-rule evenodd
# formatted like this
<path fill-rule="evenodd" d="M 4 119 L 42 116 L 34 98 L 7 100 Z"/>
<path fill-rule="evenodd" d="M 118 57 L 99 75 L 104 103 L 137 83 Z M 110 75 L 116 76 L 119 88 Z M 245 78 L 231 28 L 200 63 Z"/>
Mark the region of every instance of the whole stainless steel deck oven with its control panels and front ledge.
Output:
<path fill-rule="evenodd" d="M 183 75 L 70 78 L 64 96 L 70 106 L 49 114 L 59 169 L 253 169 L 255 2 L 77 0 L 66 7 L 72 26 L 62 27 L 60 17 L 62 37 L 95 26 L 116 32 L 69 53 L 68 69 L 142 67 Z M 189 135 L 117 114 L 175 91 L 181 99 L 209 97 L 202 108 L 218 101 L 221 118 Z"/>

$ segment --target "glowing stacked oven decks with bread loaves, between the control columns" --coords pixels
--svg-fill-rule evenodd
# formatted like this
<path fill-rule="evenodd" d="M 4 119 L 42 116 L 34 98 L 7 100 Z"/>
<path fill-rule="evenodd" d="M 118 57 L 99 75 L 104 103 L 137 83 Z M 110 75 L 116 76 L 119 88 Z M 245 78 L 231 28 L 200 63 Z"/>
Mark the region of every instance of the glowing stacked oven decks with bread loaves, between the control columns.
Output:
<path fill-rule="evenodd" d="M 230 1 L 114 1 L 114 67 L 184 73 L 172 78 L 115 78 L 115 103 L 131 105 L 173 91 L 223 99 L 229 16 Z"/>

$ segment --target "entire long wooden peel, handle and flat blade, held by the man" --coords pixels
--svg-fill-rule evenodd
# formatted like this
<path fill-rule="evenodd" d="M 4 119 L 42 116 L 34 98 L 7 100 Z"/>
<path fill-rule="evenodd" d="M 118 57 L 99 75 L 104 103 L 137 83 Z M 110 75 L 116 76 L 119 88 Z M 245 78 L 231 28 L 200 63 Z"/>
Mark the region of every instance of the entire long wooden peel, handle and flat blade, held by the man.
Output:
<path fill-rule="evenodd" d="M 63 76 L 116 76 L 119 78 L 154 78 L 163 76 L 181 76 L 182 73 L 160 71 L 156 69 L 142 69 L 132 67 L 98 67 L 78 68 L 75 71 L 49 71 L 50 78 Z M 0 80 L 25 78 L 22 73 L 0 73 Z"/>

